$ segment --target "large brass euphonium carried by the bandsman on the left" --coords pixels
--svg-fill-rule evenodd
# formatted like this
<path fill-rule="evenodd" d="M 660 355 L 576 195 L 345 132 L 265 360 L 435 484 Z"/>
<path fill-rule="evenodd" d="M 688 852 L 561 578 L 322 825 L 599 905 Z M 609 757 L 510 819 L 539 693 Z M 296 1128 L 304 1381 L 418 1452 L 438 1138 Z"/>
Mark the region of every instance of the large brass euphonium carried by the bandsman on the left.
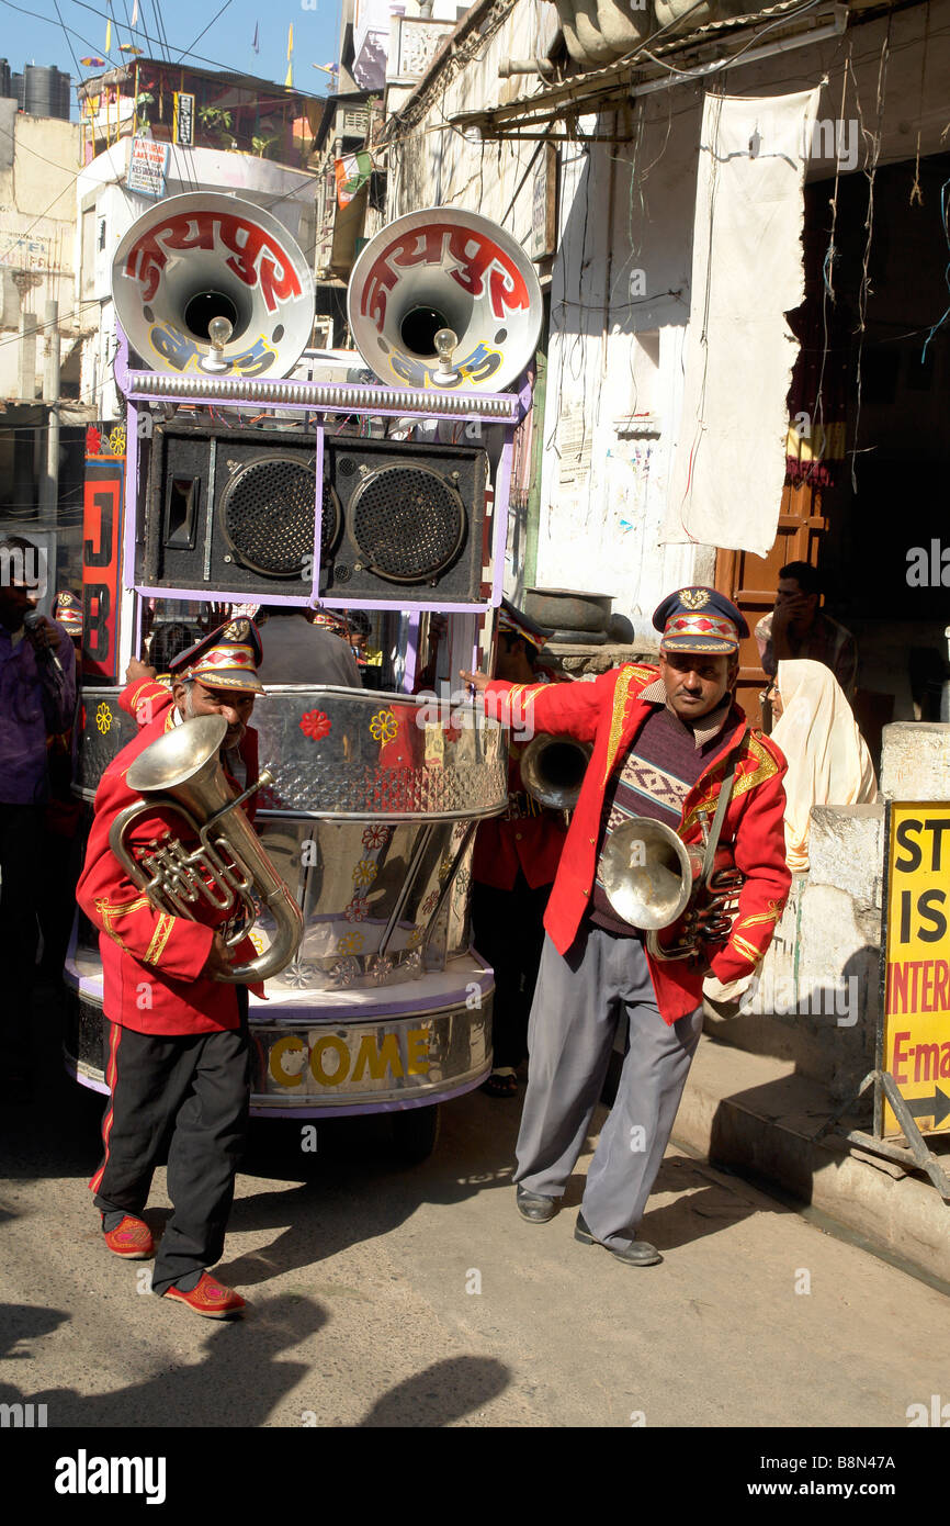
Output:
<path fill-rule="evenodd" d="M 276 922 L 270 948 L 246 964 L 232 966 L 230 974 L 215 977 L 230 984 L 250 984 L 290 964 L 303 935 L 303 917 L 241 810 L 249 795 L 270 784 L 271 775 L 265 769 L 258 783 L 235 800 L 218 758 L 226 731 L 224 716 L 197 716 L 145 748 L 125 775 L 143 800 L 119 812 L 108 845 L 159 911 L 194 922 L 191 908 L 201 897 L 221 911 L 236 911 L 238 925 L 226 935 L 227 948 L 247 937 L 258 916 L 256 902 L 262 902 Z M 201 845 L 189 852 L 168 833 L 152 841 L 140 859 L 133 858 L 124 841 L 133 821 L 163 809 L 180 815 Z"/>

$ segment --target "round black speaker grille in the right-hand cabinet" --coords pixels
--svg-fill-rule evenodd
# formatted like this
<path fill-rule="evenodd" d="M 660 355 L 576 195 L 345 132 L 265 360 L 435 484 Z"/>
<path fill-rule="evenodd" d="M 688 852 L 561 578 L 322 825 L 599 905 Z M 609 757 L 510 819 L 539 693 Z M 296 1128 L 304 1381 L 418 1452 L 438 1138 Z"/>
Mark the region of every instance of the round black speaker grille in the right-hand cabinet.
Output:
<path fill-rule="evenodd" d="M 349 525 L 360 555 L 378 577 L 418 583 L 438 577 L 457 557 L 465 507 L 436 472 L 387 465 L 360 482 Z"/>

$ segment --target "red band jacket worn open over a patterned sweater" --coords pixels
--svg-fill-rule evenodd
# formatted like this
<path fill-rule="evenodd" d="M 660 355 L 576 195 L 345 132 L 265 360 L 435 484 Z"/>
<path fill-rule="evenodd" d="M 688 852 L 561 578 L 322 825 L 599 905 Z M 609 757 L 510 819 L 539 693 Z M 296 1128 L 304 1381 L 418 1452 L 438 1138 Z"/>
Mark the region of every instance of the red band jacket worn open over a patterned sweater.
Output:
<path fill-rule="evenodd" d="M 485 690 L 485 708 L 512 729 L 564 734 L 592 742 L 593 752 L 558 868 L 544 928 L 560 954 L 573 943 L 593 890 L 601 838 L 601 813 L 610 775 L 622 766 L 651 703 L 642 691 L 659 678 L 659 668 L 627 664 L 604 673 L 593 684 L 505 684 L 493 679 Z M 701 844 L 701 818 L 712 824 L 727 758 L 740 745 L 738 766 L 720 842 L 730 845 L 735 864 L 746 876 L 738 914 L 727 943 L 708 945 L 709 966 L 723 984 L 750 975 L 765 954 L 782 914 L 791 874 L 785 865 L 785 758 L 761 731 L 749 726 L 733 705 L 721 732 L 721 748 L 683 801 L 679 835 L 686 844 Z M 672 929 L 669 934 L 672 935 Z M 703 1000 L 706 964 L 698 960 L 660 963 L 647 954 L 657 1006 L 666 1022 L 694 1012 Z"/>

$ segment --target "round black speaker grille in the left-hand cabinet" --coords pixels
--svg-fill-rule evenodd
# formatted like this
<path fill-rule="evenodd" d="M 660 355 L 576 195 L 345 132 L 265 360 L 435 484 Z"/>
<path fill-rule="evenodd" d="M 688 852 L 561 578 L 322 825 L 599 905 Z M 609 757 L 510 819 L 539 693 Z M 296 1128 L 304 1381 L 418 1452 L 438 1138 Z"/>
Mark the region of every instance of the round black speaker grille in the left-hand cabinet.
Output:
<path fill-rule="evenodd" d="M 221 494 L 220 510 L 238 562 L 265 577 L 299 578 L 313 557 L 314 487 L 314 464 L 299 456 L 270 453 L 239 467 Z M 340 505 L 325 484 L 322 554 L 329 551 L 339 528 Z"/>

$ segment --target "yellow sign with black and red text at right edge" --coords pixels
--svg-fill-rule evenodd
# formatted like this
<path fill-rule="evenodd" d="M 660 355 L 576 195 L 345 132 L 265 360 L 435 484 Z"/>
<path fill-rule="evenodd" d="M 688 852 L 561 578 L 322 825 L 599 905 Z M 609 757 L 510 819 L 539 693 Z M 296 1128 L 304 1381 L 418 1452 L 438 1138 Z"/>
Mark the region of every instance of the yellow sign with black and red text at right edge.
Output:
<path fill-rule="evenodd" d="M 950 803 L 894 801 L 881 1067 L 923 1134 L 950 1132 Z M 884 1137 L 901 1134 L 884 1102 Z"/>

